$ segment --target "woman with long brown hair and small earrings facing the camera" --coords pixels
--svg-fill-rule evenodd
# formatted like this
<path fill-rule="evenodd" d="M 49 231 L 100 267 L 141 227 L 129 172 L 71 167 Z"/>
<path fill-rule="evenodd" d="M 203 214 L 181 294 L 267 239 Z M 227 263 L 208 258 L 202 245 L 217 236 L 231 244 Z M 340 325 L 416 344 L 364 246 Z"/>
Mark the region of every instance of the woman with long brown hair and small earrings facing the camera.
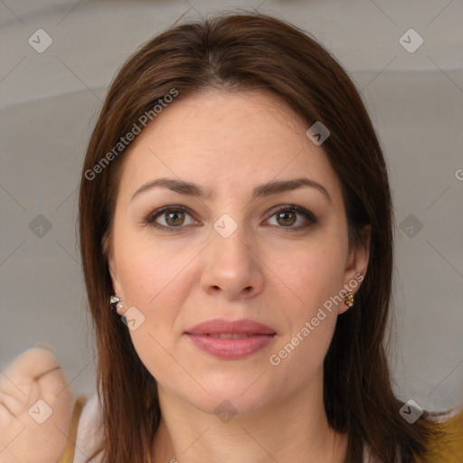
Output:
<path fill-rule="evenodd" d="M 83 165 L 101 433 L 62 461 L 460 461 L 461 415 L 392 392 L 392 223 L 364 104 L 307 33 L 228 14 L 146 43 Z"/>

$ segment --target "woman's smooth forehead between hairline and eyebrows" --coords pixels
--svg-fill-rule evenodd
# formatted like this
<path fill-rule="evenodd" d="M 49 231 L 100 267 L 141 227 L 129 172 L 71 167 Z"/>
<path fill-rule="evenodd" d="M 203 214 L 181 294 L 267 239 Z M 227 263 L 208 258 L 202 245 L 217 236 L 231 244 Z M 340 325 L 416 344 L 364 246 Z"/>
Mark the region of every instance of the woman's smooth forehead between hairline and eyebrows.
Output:
<path fill-rule="evenodd" d="M 129 147 L 121 188 L 135 191 L 161 176 L 203 184 L 212 194 L 307 176 L 341 194 L 326 152 L 308 125 L 269 90 L 207 90 L 178 97 Z"/>

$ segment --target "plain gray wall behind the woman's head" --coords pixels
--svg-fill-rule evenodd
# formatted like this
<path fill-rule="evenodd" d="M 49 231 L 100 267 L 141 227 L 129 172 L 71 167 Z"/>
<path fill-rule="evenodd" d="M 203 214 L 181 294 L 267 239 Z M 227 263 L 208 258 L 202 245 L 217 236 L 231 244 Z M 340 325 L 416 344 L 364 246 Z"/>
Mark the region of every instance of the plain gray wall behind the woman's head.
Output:
<path fill-rule="evenodd" d="M 361 90 L 389 165 L 397 221 L 391 358 L 397 392 L 429 410 L 462 402 L 463 3 L 457 0 L 249 0 L 213 7 L 203 0 L 0 0 L 0 369 L 45 342 L 75 395 L 95 391 L 76 241 L 90 131 L 109 82 L 141 43 L 182 14 L 196 18 L 238 6 L 313 33 Z M 424 41 L 414 52 L 400 43 L 411 28 Z M 28 43 L 38 29 L 52 37 L 42 53 Z M 405 35 L 409 47 L 415 39 Z"/>

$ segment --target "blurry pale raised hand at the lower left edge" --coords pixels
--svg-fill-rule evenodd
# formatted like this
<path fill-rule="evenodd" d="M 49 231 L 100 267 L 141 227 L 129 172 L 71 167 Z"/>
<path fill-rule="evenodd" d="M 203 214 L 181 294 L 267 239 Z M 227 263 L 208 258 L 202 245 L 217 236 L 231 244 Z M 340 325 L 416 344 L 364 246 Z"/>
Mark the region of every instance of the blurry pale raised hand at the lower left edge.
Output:
<path fill-rule="evenodd" d="M 72 406 L 52 352 L 33 347 L 16 357 L 0 370 L 0 463 L 57 461 L 67 445 Z"/>

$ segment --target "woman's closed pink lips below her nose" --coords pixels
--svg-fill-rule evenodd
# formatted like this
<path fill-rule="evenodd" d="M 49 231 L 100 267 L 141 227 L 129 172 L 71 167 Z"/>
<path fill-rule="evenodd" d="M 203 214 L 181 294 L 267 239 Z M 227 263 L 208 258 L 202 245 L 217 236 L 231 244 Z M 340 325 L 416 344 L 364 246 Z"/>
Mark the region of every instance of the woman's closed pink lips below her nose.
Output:
<path fill-rule="evenodd" d="M 220 339 L 211 335 L 246 333 L 239 339 Z M 275 338 L 275 330 L 252 320 L 228 322 L 214 319 L 185 332 L 194 345 L 208 354 L 229 360 L 237 360 L 254 354 L 269 345 Z"/>

